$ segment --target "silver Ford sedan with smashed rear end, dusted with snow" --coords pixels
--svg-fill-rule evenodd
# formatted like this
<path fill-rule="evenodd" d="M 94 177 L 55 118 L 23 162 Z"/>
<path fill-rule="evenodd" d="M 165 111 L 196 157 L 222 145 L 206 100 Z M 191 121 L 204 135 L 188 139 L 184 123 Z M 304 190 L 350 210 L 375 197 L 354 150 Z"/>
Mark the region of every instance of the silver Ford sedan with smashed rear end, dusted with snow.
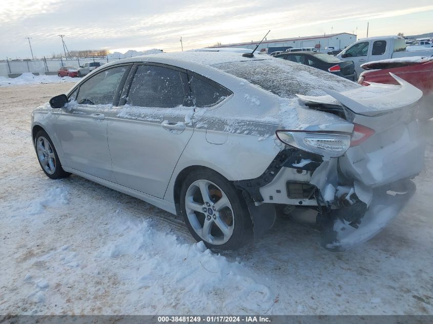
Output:
<path fill-rule="evenodd" d="M 361 87 L 257 52 L 132 57 L 37 107 L 32 138 L 48 177 L 74 173 L 181 214 L 214 250 L 263 234 L 276 205 L 310 208 L 322 246 L 345 250 L 400 212 L 424 168 L 408 114 L 422 93 L 395 78 Z"/>

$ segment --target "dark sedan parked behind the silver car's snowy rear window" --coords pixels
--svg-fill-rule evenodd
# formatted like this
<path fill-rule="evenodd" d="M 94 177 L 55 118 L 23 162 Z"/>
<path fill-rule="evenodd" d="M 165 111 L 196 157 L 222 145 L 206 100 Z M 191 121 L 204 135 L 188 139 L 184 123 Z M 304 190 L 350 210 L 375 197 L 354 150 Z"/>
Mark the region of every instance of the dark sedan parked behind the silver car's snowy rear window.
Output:
<path fill-rule="evenodd" d="M 305 64 L 307 66 L 331 72 L 351 81 L 358 79 L 352 61 L 343 61 L 335 56 L 314 52 L 291 52 L 276 55 L 277 58 Z"/>

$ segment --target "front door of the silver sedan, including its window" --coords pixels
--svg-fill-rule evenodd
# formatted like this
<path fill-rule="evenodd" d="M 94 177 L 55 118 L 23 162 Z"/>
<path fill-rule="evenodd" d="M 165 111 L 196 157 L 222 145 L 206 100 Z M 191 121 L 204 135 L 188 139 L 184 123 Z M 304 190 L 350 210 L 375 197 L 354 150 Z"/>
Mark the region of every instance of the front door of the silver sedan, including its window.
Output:
<path fill-rule="evenodd" d="M 80 83 L 70 95 L 69 110 L 63 110 L 57 118 L 56 130 L 66 166 L 115 182 L 106 118 L 113 114 L 113 100 L 118 101 L 130 68 L 126 65 L 102 70 Z"/>

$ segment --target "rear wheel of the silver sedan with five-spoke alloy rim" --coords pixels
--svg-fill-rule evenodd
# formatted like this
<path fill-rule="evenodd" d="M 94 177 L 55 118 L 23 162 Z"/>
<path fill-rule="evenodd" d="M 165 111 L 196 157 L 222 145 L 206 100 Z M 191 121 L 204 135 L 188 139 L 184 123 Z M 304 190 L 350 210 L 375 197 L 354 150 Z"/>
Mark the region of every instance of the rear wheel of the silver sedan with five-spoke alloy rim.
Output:
<path fill-rule="evenodd" d="M 200 169 L 185 178 L 180 208 L 194 239 L 213 251 L 239 249 L 251 237 L 251 217 L 241 192 L 215 171 Z"/>

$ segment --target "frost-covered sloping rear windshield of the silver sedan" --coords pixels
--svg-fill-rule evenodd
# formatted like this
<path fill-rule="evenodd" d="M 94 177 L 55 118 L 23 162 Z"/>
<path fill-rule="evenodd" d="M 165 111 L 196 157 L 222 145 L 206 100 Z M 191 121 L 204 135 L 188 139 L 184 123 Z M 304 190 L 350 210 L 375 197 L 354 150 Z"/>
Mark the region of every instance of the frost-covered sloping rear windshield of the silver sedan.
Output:
<path fill-rule="evenodd" d="M 337 75 L 280 58 L 224 62 L 213 65 L 283 98 L 325 95 L 323 89 L 343 91 L 361 87 Z"/>

